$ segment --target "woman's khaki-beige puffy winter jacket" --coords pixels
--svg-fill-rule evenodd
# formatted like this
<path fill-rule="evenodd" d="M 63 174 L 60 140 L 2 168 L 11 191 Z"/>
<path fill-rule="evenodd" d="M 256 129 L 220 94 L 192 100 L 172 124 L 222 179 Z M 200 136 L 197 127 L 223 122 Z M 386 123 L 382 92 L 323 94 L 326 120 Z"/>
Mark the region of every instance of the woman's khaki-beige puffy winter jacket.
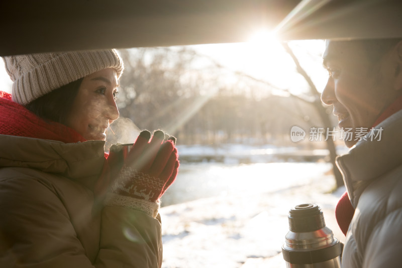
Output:
<path fill-rule="evenodd" d="M 104 159 L 103 141 L 0 135 L 0 267 L 161 266 L 159 216 L 94 199 Z"/>

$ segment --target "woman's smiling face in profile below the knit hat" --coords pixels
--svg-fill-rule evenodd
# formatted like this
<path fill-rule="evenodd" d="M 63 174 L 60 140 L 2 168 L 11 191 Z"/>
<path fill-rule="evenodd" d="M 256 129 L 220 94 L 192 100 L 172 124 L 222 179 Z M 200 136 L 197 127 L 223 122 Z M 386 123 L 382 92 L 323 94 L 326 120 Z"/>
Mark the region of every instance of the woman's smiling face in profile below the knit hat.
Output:
<path fill-rule="evenodd" d="M 116 105 L 119 80 L 113 68 L 94 72 L 82 79 L 67 126 L 86 140 L 105 140 L 106 129 L 119 118 Z"/>

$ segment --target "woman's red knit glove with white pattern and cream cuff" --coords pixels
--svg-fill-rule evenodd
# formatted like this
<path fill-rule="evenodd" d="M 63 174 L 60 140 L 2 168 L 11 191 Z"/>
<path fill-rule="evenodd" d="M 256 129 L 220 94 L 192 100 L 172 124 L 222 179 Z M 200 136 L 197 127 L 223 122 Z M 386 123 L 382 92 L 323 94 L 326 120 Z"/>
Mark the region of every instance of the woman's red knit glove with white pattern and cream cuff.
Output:
<path fill-rule="evenodd" d="M 134 145 L 120 153 L 123 166 L 110 188 L 108 205 L 131 207 L 155 216 L 160 197 L 176 179 L 179 161 L 174 137 L 164 140 L 165 135 L 160 130 L 155 131 L 151 141 L 150 136 L 149 131 L 141 132 Z M 116 162 L 119 168 L 121 159 Z M 110 173 L 115 172 L 111 168 Z"/>

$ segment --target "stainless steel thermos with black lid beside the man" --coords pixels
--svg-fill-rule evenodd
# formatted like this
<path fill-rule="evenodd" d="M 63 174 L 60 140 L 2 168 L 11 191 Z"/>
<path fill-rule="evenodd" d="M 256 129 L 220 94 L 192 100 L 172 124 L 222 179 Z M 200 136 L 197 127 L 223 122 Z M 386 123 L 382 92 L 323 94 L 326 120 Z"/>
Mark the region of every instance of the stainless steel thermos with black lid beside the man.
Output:
<path fill-rule="evenodd" d="M 342 244 L 325 226 L 316 204 L 300 204 L 288 214 L 289 232 L 282 245 L 288 268 L 339 268 Z"/>

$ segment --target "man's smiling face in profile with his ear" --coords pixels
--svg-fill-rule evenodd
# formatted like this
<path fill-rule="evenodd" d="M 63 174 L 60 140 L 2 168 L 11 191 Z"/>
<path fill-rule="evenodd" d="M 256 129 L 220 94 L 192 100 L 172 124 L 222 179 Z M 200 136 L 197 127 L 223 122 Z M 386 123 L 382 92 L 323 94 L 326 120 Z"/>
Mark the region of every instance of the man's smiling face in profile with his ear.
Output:
<path fill-rule="evenodd" d="M 392 51 L 391 51 L 392 52 Z M 321 100 L 334 106 L 339 128 L 373 127 L 375 120 L 399 94 L 394 88 L 395 60 L 387 52 L 376 62 L 370 62 L 367 52 L 357 42 L 327 41 L 323 55 L 329 71 Z M 345 140 L 348 147 L 357 141 Z"/>

